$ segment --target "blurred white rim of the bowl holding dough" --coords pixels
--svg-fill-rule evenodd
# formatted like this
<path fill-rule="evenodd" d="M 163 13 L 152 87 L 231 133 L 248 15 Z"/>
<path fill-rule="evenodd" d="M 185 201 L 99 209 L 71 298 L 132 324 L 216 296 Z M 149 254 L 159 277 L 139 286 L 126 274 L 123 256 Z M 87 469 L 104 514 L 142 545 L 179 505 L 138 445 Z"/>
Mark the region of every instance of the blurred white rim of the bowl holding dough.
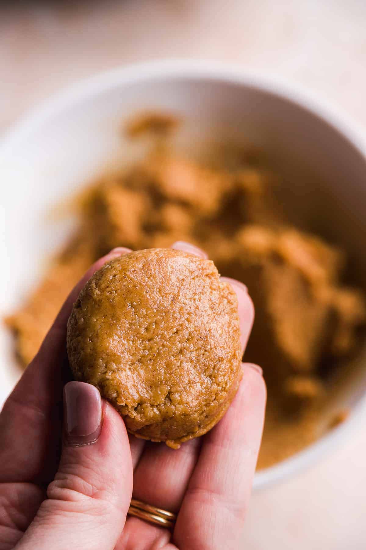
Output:
<path fill-rule="evenodd" d="M 111 87 L 138 84 L 154 79 L 209 79 L 217 84 L 220 82 L 235 84 L 277 96 L 285 102 L 305 109 L 309 114 L 315 115 L 323 123 L 328 124 L 335 133 L 344 136 L 364 158 L 366 174 L 366 137 L 361 125 L 359 126 L 355 120 L 351 120 L 349 116 L 342 113 L 339 106 L 329 102 L 328 99 L 325 101 L 321 95 L 318 96 L 288 79 L 249 71 L 237 64 L 223 64 L 206 59 L 162 59 L 133 63 L 98 73 L 69 85 L 43 101 L 40 106 L 31 108 L 28 114 L 5 131 L 0 138 L 0 162 L 14 149 L 16 142 L 31 135 L 35 129 L 47 122 L 51 115 L 62 112 L 74 103 L 100 94 Z M 254 488 L 267 487 L 312 465 L 334 449 L 342 439 L 350 436 L 363 417 L 366 420 L 366 394 L 359 399 L 348 419 L 341 425 L 324 434 L 318 441 L 299 453 L 256 472 Z"/>

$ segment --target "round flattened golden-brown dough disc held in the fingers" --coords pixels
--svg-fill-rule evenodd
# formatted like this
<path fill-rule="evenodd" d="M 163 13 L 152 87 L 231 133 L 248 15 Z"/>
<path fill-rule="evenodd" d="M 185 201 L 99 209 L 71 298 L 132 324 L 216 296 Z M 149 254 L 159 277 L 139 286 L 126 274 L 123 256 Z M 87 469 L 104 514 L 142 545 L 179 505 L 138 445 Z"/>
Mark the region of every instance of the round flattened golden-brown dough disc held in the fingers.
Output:
<path fill-rule="evenodd" d="M 82 290 L 67 352 L 76 379 L 94 384 L 129 432 L 177 448 L 210 430 L 238 389 L 237 297 L 212 261 L 132 252 Z"/>

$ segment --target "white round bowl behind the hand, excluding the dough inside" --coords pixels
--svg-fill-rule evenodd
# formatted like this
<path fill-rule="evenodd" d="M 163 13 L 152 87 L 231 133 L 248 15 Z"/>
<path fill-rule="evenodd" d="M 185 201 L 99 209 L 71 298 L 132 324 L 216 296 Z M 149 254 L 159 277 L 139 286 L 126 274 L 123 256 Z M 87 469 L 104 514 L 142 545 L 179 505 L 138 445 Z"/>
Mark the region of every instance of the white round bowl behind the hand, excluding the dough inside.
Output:
<path fill-rule="evenodd" d="M 123 141 L 122 121 L 141 108 L 179 114 L 177 147 L 234 140 L 263 147 L 283 173 L 294 220 L 319 230 L 350 254 L 366 281 L 365 142 L 328 107 L 287 86 L 209 63 L 156 62 L 96 76 L 33 112 L 0 144 L 0 309 L 9 312 L 40 277 L 42 262 L 65 239 L 72 221 L 47 213 L 95 173 L 141 151 Z M 365 364 L 363 357 L 358 361 Z M 0 402 L 16 379 L 12 341 L 0 333 Z M 303 452 L 256 474 L 255 486 L 298 471 L 339 441 L 365 414 L 366 370 L 350 377 L 337 405 L 351 419 Z"/>

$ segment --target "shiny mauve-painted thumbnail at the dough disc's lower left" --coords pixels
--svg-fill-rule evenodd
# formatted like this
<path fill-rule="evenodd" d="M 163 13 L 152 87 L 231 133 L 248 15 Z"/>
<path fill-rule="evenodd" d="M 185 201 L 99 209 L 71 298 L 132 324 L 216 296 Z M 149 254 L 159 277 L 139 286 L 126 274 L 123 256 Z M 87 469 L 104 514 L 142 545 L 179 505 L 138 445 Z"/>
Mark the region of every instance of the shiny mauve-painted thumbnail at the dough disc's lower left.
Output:
<path fill-rule="evenodd" d="M 102 400 L 97 388 L 85 382 L 68 382 L 64 407 L 67 443 L 71 447 L 95 443 L 102 430 Z"/>

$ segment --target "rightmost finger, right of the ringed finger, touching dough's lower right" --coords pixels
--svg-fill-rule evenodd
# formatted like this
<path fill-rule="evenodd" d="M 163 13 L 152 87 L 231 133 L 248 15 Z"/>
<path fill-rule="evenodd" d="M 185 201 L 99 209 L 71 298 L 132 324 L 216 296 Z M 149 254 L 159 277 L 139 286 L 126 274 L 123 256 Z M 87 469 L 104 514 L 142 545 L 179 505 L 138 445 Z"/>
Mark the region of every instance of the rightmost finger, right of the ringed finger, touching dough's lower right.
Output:
<path fill-rule="evenodd" d="M 233 403 L 203 438 L 174 530 L 174 542 L 182 550 L 240 547 L 266 403 L 261 373 L 250 365 L 243 368 Z"/>

